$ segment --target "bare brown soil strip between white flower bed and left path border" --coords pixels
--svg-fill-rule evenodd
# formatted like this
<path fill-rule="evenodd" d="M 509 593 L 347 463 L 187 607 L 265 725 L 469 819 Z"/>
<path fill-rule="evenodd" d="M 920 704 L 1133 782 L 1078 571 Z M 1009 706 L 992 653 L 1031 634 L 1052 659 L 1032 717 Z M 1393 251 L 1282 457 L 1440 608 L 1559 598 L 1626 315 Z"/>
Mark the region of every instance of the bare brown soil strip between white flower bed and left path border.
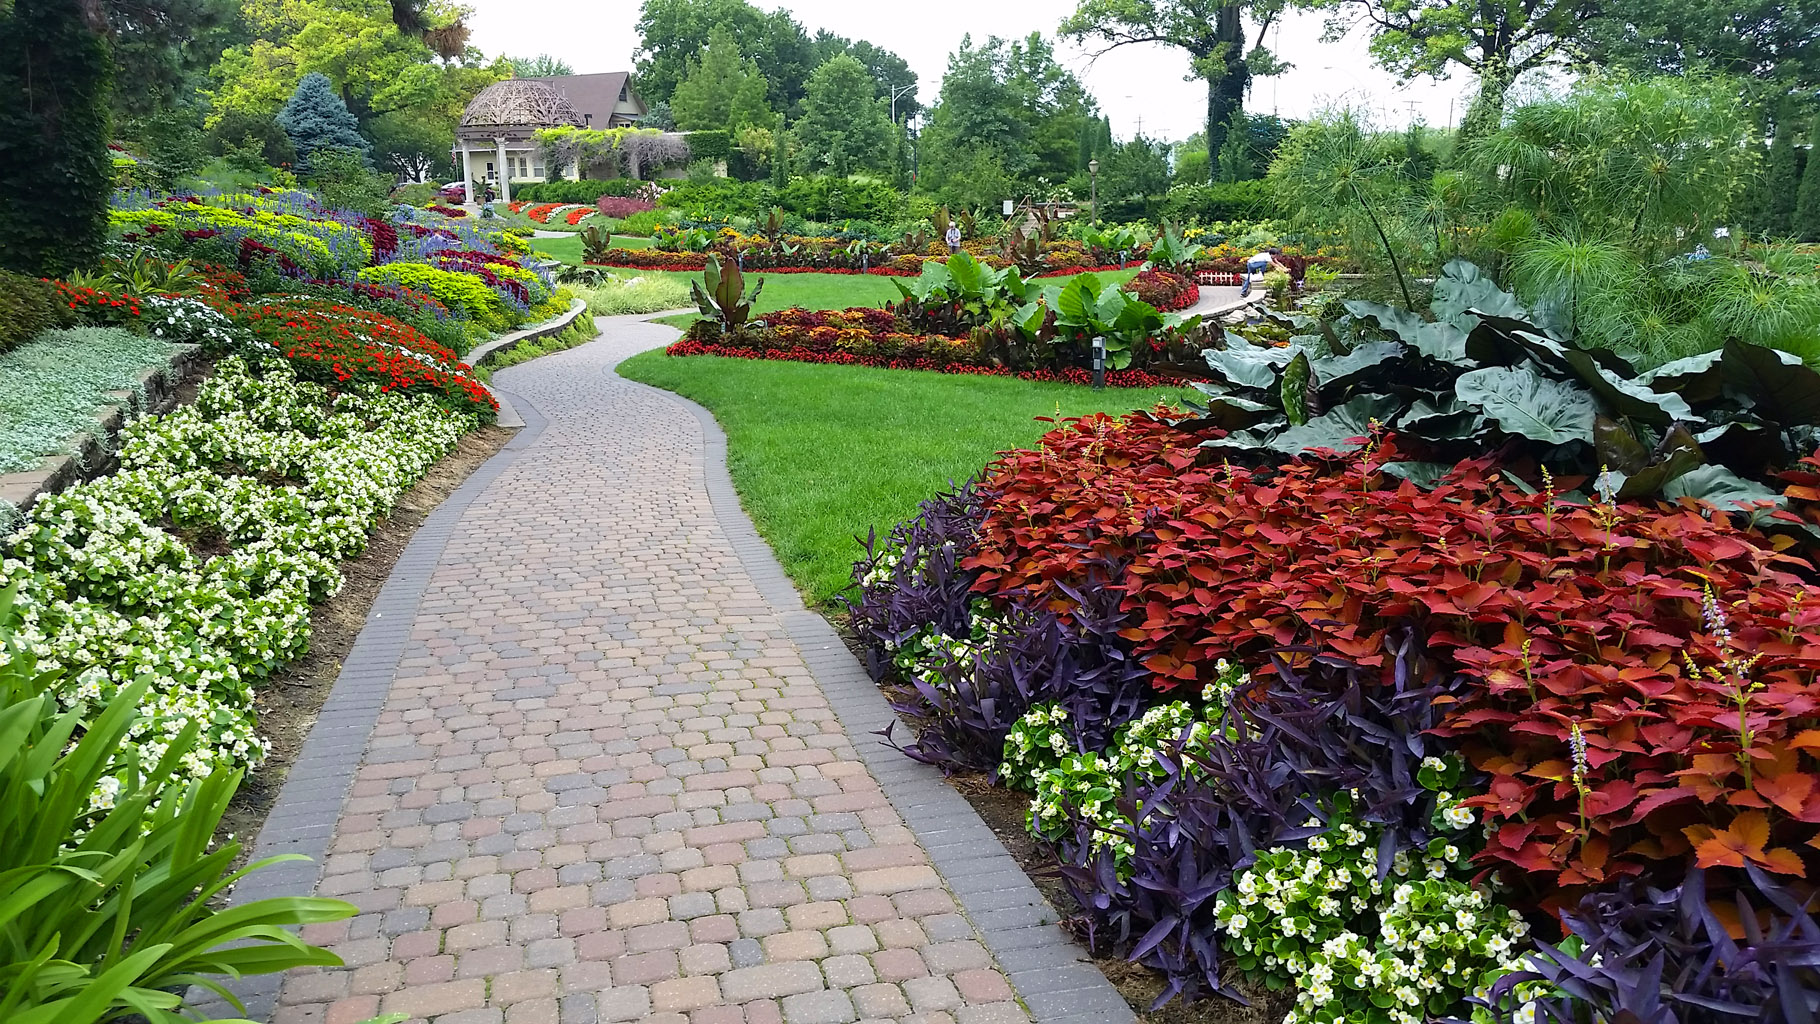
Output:
<path fill-rule="evenodd" d="M 309 613 L 309 653 L 275 673 L 253 700 L 258 713 L 258 735 L 271 742 L 271 757 L 240 782 L 217 835 L 237 835 L 246 842 L 242 858 L 251 853 L 251 838 L 266 824 L 271 804 L 284 789 L 284 778 L 297 762 L 297 753 L 317 722 L 317 711 L 328 700 L 342 658 L 353 648 L 366 624 L 373 598 L 391 575 L 391 566 L 404 553 L 411 535 L 424 518 L 440 506 L 482 462 L 499 453 L 517 433 L 506 427 L 480 427 L 460 438 L 460 444 L 415 487 L 399 498 L 391 515 L 382 518 L 368 538 L 359 558 L 342 562 L 342 589 Z"/>

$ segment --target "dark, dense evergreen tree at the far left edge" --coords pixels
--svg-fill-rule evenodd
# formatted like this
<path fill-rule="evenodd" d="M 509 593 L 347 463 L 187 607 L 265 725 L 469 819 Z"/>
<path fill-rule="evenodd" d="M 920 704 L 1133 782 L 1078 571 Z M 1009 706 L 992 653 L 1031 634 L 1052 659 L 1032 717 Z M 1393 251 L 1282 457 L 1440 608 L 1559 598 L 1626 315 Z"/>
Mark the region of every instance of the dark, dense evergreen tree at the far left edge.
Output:
<path fill-rule="evenodd" d="M 76 0 L 0 5 L 0 269 L 64 276 L 107 240 L 111 60 Z"/>

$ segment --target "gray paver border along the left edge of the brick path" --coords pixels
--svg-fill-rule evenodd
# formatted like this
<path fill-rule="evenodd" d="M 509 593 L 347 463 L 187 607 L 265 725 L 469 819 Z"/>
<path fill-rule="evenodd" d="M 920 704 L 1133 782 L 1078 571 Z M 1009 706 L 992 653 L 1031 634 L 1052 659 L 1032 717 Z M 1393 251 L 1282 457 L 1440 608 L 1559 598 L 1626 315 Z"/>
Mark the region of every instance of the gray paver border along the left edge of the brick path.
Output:
<path fill-rule="evenodd" d="M 379 711 L 391 693 L 399 658 L 404 657 L 404 644 L 417 618 L 417 606 L 430 589 L 430 575 L 442 560 L 442 551 L 455 537 L 468 506 L 544 431 L 546 420 L 530 402 L 519 398 L 517 406 L 524 409 L 524 429 L 431 509 L 404 546 L 379 597 L 373 598 L 373 607 L 366 613 L 360 635 L 342 660 L 322 711 L 309 726 L 297 762 L 284 777 L 284 788 L 278 789 L 266 824 L 258 829 L 253 860 L 280 855 L 304 855 L 309 860 L 288 860 L 248 875 L 235 886 L 235 904 L 317 891 L 335 824 L 353 789 L 353 775 L 360 768 L 366 744 L 379 724 Z M 269 1020 L 282 980 L 284 975 L 253 975 L 228 988 L 246 1004 L 244 1017 Z M 213 997 L 195 999 L 204 1013 L 242 1017 Z"/>

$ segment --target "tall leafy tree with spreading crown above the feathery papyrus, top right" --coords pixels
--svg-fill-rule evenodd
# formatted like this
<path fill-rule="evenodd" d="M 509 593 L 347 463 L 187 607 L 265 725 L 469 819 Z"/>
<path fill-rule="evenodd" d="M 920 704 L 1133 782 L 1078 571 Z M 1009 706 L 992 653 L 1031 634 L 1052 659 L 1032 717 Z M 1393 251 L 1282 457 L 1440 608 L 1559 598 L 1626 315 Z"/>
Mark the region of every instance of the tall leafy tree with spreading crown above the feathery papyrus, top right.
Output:
<path fill-rule="evenodd" d="M 1461 138 L 1498 127 L 1503 98 L 1518 75 L 1560 64 L 1585 25 L 1600 15 L 1602 0 L 1505 0 L 1460 4 L 1456 0 L 1298 0 L 1299 5 L 1332 11 L 1327 24 L 1338 38 L 1363 24 L 1372 55 L 1403 78 L 1445 76 L 1460 69 L 1478 76 L 1478 95 L 1460 122 Z"/>

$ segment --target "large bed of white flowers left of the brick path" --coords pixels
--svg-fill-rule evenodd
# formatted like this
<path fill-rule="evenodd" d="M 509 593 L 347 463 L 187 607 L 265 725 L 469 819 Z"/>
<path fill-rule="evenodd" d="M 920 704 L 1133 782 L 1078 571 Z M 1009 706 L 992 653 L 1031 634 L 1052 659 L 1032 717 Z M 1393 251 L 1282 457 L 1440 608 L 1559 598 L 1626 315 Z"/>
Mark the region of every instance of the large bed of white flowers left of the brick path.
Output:
<path fill-rule="evenodd" d="M 189 775 L 258 764 L 253 686 L 308 651 L 339 560 L 471 426 L 430 397 L 331 397 L 284 362 L 226 358 L 193 406 L 127 427 L 120 473 L 42 498 L 0 540 L 16 640 L 64 671 L 64 706 L 153 678 L 129 733 L 142 758 L 195 722 Z"/>

